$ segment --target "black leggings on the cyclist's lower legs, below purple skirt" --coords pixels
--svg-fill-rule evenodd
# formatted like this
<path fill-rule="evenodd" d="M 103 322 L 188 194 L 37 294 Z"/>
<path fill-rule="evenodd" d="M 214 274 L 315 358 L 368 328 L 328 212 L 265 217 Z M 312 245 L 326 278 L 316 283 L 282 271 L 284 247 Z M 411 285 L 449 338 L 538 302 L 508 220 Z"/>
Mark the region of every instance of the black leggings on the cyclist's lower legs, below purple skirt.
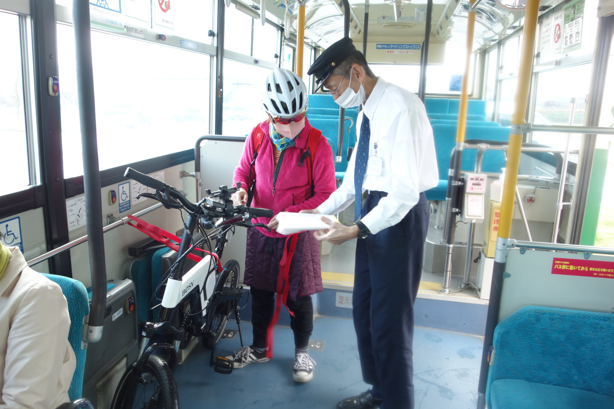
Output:
<path fill-rule="evenodd" d="M 256 348 L 266 348 L 266 329 L 273 319 L 275 299 L 273 291 L 252 288 L 252 326 L 254 345 Z M 294 345 L 306 348 L 313 331 L 313 302 L 311 296 L 299 297 L 297 300 L 287 300 L 288 308 L 294 313 L 290 316 L 290 328 L 294 332 Z M 284 308 L 284 307 L 282 307 Z"/>

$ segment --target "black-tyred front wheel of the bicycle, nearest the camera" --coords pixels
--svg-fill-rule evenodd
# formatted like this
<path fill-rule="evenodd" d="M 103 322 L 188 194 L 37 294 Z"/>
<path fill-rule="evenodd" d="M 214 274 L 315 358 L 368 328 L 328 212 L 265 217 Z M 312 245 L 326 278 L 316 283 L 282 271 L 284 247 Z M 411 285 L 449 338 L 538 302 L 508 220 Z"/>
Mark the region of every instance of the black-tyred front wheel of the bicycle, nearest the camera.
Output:
<path fill-rule="evenodd" d="M 159 356 L 150 355 L 141 371 L 131 368 L 120 380 L 112 409 L 179 409 L 173 371 Z"/>

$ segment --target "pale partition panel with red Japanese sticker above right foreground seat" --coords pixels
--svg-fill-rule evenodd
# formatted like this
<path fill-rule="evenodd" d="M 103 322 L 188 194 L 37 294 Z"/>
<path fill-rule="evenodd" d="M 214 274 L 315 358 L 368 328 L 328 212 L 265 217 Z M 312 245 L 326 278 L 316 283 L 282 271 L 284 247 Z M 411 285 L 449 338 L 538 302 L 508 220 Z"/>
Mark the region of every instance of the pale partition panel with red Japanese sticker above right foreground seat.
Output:
<path fill-rule="evenodd" d="M 508 250 L 499 321 L 526 305 L 614 313 L 614 256 Z"/>

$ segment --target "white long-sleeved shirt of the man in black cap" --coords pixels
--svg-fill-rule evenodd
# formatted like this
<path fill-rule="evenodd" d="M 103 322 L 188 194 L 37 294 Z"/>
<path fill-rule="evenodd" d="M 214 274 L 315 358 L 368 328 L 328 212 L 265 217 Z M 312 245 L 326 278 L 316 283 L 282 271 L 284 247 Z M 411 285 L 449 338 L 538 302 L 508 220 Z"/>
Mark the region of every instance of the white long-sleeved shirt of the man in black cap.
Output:
<path fill-rule="evenodd" d="M 363 115 L 370 120 L 371 136 L 369 164 L 362 189 L 388 193 L 362 218 L 362 223 L 376 234 L 400 222 L 418 203 L 421 192 L 437 186 L 439 175 L 433 130 L 424 104 L 416 94 L 379 77 L 363 104 L 357 130 Z M 375 172 L 369 171 L 372 158 L 381 159 L 381 172 L 378 172 L 378 166 L 371 167 Z M 373 164 L 377 165 L 379 159 Z M 320 213 L 338 213 L 354 202 L 355 161 L 356 149 L 352 152 L 343 183 L 319 205 L 317 210 Z"/>

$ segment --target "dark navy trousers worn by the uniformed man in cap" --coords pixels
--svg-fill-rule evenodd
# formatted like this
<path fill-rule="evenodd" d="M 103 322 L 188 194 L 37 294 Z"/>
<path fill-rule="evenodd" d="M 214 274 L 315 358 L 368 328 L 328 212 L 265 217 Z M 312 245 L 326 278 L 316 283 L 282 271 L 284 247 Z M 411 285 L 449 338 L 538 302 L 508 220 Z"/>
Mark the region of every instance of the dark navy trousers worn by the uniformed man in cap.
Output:
<path fill-rule="evenodd" d="M 386 193 L 371 192 L 370 212 Z M 383 408 L 413 409 L 414 301 L 429 227 L 424 193 L 402 221 L 357 239 L 353 314 L 365 383 L 381 392 Z"/>

